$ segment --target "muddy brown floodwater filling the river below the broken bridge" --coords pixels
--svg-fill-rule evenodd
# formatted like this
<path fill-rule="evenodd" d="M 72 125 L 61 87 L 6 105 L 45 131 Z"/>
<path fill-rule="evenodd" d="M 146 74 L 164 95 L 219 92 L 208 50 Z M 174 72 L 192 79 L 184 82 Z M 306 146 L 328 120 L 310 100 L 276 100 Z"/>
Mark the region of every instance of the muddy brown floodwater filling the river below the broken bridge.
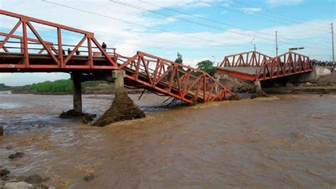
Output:
<path fill-rule="evenodd" d="M 71 96 L 1 94 L 0 168 L 38 173 L 57 188 L 336 188 L 336 95 L 177 109 L 164 99 L 135 100 L 145 119 L 97 128 L 57 117 Z M 83 100 L 96 114 L 111 103 Z M 25 155 L 9 160 L 16 151 Z M 82 180 L 87 173 L 96 178 Z"/>

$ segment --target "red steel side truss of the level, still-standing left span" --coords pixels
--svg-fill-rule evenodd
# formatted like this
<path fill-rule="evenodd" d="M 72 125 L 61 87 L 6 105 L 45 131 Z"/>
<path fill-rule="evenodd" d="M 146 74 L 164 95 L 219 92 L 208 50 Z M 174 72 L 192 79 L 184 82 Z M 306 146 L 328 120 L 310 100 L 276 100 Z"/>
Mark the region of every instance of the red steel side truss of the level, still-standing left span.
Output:
<path fill-rule="evenodd" d="M 43 21 L 37 18 L 31 18 L 28 16 L 23 16 L 17 13 L 12 13 L 9 11 L 4 11 L 0 9 L 0 15 L 2 16 L 9 16 L 11 18 L 16 18 L 18 22 L 10 29 L 9 33 L 1 32 L 0 36 L 4 36 L 4 39 L 0 41 L 0 50 L 4 50 L 5 53 L 10 53 L 10 49 L 19 49 L 18 53 L 23 55 L 23 60 L 20 61 L 18 64 L 22 68 L 34 68 L 38 65 L 31 65 L 30 64 L 30 55 L 33 50 L 38 50 L 37 54 L 42 54 L 43 51 L 46 51 L 46 55 L 50 58 L 49 65 L 45 65 L 48 68 L 74 68 L 73 65 L 69 63 L 72 62 L 73 58 L 78 55 L 79 48 L 86 48 L 86 50 L 82 50 L 87 54 L 87 58 L 85 63 L 81 66 L 81 68 L 94 68 L 94 49 L 98 50 L 98 53 L 106 59 L 105 66 L 108 68 L 116 68 L 117 63 L 108 55 L 106 49 L 103 49 L 101 44 L 96 40 L 94 37 L 94 33 L 79 30 L 77 28 L 71 28 L 68 26 L 63 26 L 57 23 L 52 23 L 49 21 Z M 57 43 L 50 43 L 43 39 L 42 32 L 38 31 L 38 26 L 45 26 L 48 28 L 55 29 L 57 31 Z M 14 35 L 18 28 L 22 28 L 21 35 Z M 64 37 L 64 32 L 69 31 L 71 33 L 76 33 L 81 36 L 81 40 L 74 45 L 63 45 L 62 38 Z M 28 38 L 28 33 L 33 33 L 34 38 Z M 11 39 L 18 39 L 19 42 L 10 41 Z M 83 45 L 86 42 L 86 46 Z M 16 47 L 13 46 L 6 46 L 9 43 L 18 43 Z M 31 46 L 40 45 L 38 48 L 31 48 Z M 28 47 L 30 46 L 30 47 Z M 72 47 L 72 50 L 69 51 L 68 55 L 65 55 L 64 47 Z M 57 47 L 57 48 L 56 48 Z"/>

